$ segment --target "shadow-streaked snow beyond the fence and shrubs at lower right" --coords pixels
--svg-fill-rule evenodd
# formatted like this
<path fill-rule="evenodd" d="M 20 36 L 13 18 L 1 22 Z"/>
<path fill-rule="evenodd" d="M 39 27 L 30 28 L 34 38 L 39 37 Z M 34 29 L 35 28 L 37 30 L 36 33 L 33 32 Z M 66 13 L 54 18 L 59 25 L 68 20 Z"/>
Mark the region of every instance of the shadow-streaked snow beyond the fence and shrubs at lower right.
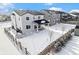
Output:
<path fill-rule="evenodd" d="M 72 36 L 71 40 L 55 55 L 79 55 L 79 36 Z"/>

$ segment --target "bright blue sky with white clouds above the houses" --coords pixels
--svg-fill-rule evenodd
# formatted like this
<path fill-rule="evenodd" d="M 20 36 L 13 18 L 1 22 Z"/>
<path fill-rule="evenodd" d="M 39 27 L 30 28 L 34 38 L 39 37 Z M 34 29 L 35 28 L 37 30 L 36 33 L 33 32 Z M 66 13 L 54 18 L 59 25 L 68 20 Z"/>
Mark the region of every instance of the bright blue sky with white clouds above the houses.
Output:
<path fill-rule="evenodd" d="M 14 9 L 54 9 L 70 12 L 72 10 L 79 10 L 79 3 L 0 3 L 0 13 L 11 12 Z"/>

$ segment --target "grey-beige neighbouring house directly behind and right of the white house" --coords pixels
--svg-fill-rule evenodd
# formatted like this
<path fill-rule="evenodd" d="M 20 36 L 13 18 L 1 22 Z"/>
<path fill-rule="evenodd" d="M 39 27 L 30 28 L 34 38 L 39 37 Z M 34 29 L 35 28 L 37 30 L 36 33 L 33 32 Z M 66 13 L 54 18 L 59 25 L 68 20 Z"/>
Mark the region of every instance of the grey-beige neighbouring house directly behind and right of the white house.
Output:
<path fill-rule="evenodd" d="M 60 11 L 55 10 L 41 10 L 45 14 L 45 19 L 50 22 L 50 25 L 54 25 L 60 22 Z"/>

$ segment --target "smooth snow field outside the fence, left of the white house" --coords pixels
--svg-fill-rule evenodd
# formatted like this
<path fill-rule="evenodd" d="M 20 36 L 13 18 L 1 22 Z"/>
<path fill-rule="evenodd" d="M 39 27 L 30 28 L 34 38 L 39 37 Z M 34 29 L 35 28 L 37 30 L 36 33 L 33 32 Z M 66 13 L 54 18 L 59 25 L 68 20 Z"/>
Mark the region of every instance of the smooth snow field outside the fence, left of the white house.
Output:
<path fill-rule="evenodd" d="M 21 55 L 4 33 L 4 27 L 10 27 L 10 22 L 0 23 L 0 55 Z"/>

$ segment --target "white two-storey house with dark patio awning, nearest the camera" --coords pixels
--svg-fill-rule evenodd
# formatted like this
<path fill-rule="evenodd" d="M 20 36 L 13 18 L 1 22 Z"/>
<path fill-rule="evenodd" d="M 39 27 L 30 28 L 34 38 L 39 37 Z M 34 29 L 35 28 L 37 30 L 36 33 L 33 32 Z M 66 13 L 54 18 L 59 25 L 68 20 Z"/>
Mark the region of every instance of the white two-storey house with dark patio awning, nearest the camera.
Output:
<path fill-rule="evenodd" d="M 12 28 L 22 34 L 29 34 L 33 31 L 43 29 L 41 25 L 48 25 L 44 14 L 31 10 L 15 10 L 11 14 Z"/>

